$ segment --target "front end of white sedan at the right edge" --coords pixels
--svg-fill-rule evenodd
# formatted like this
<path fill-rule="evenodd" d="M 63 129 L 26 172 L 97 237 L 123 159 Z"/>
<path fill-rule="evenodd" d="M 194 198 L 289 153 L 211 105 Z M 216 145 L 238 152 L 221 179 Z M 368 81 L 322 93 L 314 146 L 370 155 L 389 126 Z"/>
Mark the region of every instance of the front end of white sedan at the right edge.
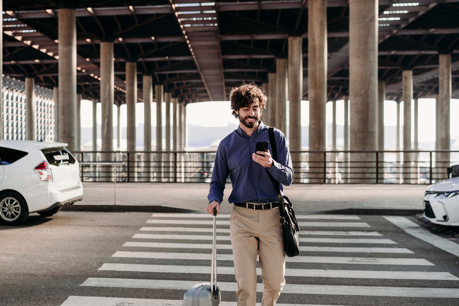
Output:
<path fill-rule="evenodd" d="M 424 217 L 432 223 L 459 226 L 459 177 L 445 179 L 427 188 Z"/>

